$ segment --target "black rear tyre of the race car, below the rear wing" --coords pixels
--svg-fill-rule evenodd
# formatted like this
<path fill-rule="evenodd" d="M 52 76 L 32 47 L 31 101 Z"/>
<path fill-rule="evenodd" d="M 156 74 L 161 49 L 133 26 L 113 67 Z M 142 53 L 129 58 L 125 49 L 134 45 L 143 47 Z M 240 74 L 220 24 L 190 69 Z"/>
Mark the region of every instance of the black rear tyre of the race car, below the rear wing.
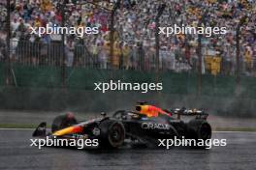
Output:
<path fill-rule="evenodd" d="M 205 120 L 192 120 L 187 124 L 189 139 L 207 141 L 211 138 L 211 127 Z"/>

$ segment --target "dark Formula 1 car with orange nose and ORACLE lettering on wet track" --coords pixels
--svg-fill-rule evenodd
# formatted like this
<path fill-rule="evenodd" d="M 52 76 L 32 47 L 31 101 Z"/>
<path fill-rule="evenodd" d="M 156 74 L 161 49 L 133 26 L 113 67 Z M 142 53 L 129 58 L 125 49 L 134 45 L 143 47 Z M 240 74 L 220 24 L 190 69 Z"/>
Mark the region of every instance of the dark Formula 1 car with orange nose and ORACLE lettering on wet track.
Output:
<path fill-rule="evenodd" d="M 194 116 L 189 121 L 183 116 Z M 177 108 L 164 110 L 140 102 L 133 111 L 119 110 L 112 116 L 105 113 L 97 119 L 78 122 L 73 114 L 57 116 L 51 132 L 46 133 L 46 123 L 34 131 L 34 137 L 65 139 L 97 139 L 100 148 L 130 146 L 157 146 L 159 139 L 188 138 L 208 140 L 211 128 L 208 114 L 202 110 Z"/>

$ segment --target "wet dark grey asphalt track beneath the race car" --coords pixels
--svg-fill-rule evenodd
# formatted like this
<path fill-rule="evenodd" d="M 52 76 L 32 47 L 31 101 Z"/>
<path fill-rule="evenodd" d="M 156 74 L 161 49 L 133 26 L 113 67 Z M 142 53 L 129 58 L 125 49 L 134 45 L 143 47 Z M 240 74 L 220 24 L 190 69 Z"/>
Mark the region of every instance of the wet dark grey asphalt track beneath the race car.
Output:
<path fill-rule="evenodd" d="M 211 150 L 128 149 L 80 151 L 75 149 L 30 147 L 28 129 L 0 129 L 0 169 L 104 169 L 104 170 L 255 170 L 256 133 L 217 132 L 227 147 Z"/>

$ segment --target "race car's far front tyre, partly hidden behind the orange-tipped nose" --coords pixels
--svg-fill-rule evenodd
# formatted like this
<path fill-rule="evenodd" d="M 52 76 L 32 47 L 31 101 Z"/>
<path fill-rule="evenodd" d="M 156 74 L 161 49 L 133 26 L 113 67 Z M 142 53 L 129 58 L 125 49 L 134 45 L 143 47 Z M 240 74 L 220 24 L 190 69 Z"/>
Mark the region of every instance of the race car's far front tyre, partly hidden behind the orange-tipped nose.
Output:
<path fill-rule="evenodd" d="M 51 132 L 55 132 L 62 128 L 71 127 L 78 124 L 76 118 L 71 114 L 60 115 L 55 117 L 51 125 Z"/>

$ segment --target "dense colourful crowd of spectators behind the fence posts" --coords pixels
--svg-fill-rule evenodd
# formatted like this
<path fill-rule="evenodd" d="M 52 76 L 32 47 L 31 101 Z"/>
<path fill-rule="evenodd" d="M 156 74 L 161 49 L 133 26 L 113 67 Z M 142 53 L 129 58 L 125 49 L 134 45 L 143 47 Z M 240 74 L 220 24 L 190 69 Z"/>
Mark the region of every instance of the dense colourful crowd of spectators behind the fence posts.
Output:
<path fill-rule="evenodd" d="M 87 2 L 87 3 L 85 3 Z M 65 7 L 65 25 L 99 27 L 97 35 L 79 38 L 66 35 L 65 49 L 61 36 L 30 34 L 30 27 L 61 25 L 62 6 L 59 0 L 11 0 L 11 53 L 13 61 L 29 64 L 59 65 L 66 54 L 66 65 L 109 66 L 125 70 L 154 70 L 156 65 L 155 18 L 159 7 L 166 4 L 160 17 L 161 26 L 187 25 L 226 27 L 226 35 L 202 38 L 204 58 L 221 58 L 221 72 L 234 74 L 237 67 L 237 28 L 240 28 L 240 65 L 242 72 L 256 72 L 256 2 L 255 0 L 121 0 L 114 14 L 113 54 L 111 60 L 111 14 L 116 0 L 69 0 Z M 94 5 L 93 5 L 94 4 Z M 97 4 L 97 5 L 95 5 Z M 1 6 L 1 5 L 0 5 Z M 0 8 L 0 10 L 3 8 Z M 109 10 L 108 10 L 109 9 Z M 1 14 L 4 13 L 1 10 Z M 5 18 L 0 18 L 1 25 Z M 6 32 L 0 30 L 0 60 L 4 59 L 3 43 Z M 160 36 L 160 69 L 173 71 L 196 70 L 197 35 Z"/>

